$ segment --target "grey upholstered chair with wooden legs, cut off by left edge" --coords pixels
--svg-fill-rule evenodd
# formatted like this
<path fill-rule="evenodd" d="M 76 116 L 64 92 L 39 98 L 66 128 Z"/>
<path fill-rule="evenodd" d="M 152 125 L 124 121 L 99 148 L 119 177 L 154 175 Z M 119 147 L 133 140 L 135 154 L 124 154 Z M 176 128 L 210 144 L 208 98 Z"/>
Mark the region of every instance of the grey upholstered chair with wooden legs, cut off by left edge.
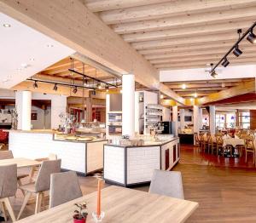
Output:
<path fill-rule="evenodd" d="M 3 211 L 3 217 L 6 219 L 5 208 L 9 215 L 15 221 L 14 211 L 9 203 L 9 197 L 15 196 L 17 191 L 17 165 L 0 166 L 0 208 Z"/>

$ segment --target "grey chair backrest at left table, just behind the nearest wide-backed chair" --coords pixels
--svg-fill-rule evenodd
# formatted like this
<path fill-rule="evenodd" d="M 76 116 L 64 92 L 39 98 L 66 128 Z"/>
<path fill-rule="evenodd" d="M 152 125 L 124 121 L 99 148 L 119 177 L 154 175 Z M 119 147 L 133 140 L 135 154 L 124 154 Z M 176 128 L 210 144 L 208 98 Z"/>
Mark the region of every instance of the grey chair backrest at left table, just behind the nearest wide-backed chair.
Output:
<path fill-rule="evenodd" d="M 42 163 L 35 183 L 36 192 L 49 190 L 50 174 L 61 172 L 61 159 L 46 160 Z"/>

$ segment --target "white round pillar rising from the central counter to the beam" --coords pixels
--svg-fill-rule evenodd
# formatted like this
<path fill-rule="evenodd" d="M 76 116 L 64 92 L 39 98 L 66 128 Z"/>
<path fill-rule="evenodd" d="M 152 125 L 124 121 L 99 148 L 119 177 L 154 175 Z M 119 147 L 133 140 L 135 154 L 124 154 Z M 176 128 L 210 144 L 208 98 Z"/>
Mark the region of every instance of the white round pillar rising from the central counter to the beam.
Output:
<path fill-rule="evenodd" d="M 135 78 L 133 74 L 122 77 L 122 134 L 135 134 Z"/>

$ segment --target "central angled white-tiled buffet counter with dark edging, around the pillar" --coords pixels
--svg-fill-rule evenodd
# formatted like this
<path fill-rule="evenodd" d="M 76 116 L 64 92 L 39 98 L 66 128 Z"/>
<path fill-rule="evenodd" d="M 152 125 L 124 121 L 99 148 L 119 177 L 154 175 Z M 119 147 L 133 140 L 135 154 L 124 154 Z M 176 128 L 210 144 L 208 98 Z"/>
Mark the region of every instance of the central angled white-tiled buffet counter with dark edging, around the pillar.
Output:
<path fill-rule="evenodd" d="M 104 180 L 119 186 L 149 183 L 154 169 L 170 170 L 179 161 L 177 137 L 144 141 L 143 146 L 104 145 Z"/>

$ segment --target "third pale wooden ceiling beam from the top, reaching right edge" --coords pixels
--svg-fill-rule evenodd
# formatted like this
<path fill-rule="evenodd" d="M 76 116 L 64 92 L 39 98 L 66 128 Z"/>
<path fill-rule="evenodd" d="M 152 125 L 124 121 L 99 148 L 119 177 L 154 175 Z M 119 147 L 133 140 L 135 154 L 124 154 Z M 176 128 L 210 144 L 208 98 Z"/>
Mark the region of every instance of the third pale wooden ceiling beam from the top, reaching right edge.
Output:
<path fill-rule="evenodd" d="M 189 9 L 189 8 L 188 8 Z M 193 9 L 193 7 L 191 8 Z M 172 16 L 172 15 L 171 15 Z M 219 9 L 211 12 L 203 12 L 201 14 L 180 14 L 159 20 L 153 20 L 148 16 L 149 20 L 141 20 L 128 23 L 120 23 L 113 25 L 113 31 L 119 34 L 134 33 L 139 31 L 156 31 L 170 28 L 187 28 L 189 26 L 211 25 L 212 23 L 221 23 L 239 20 L 252 20 L 256 16 L 256 7 L 243 7 L 241 9 Z"/>

